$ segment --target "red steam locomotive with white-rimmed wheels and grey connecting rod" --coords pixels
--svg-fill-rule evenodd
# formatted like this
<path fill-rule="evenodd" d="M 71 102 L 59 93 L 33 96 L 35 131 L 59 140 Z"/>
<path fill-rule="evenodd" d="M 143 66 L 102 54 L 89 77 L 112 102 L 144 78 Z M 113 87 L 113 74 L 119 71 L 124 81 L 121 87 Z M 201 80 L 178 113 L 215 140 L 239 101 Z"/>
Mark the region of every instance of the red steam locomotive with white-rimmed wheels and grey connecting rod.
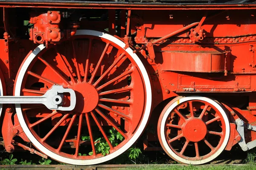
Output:
<path fill-rule="evenodd" d="M 144 149 L 159 141 L 185 164 L 235 144 L 256 147 L 256 3 L 35 0 L 0 8 L 7 152 L 99 164 L 149 126 L 155 133 Z M 96 149 L 99 140 L 107 150 Z"/>

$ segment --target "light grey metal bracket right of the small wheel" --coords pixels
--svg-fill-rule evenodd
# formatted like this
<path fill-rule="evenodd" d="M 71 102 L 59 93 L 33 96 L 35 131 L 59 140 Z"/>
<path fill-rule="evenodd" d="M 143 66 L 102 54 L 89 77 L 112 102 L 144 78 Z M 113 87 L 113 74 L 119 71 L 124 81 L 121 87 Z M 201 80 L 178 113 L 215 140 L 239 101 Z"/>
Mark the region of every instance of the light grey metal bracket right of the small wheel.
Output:
<path fill-rule="evenodd" d="M 249 149 L 252 149 L 253 147 L 256 147 L 256 140 L 246 143 L 244 138 L 244 121 L 241 119 L 236 119 L 236 130 L 238 131 L 239 135 L 241 136 L 241 140 L 238 142 L 240 147 L 243 151 L 247 151 Z M 256 128 L 256 127 L 255 127 Z M 256 129 L 255 129 L 256 130 Z"/>

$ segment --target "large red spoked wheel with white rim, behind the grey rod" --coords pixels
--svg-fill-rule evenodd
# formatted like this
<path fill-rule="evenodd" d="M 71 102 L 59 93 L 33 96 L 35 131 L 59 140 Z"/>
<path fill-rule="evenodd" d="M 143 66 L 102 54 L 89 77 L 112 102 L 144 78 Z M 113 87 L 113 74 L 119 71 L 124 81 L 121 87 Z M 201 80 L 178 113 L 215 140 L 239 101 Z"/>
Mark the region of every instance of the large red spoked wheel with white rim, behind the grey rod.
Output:
<path fill-rule="evenodd" d="M 43 95 L 58 84 L 73 89 L 77 101 L 69 112 L 16 105 L 20 124 L 35 147 L 52 159 L 79 165 L 108 161 L 131 147 L 148 121 L 151 86 L 140 59 L 123 47 L 111 35 L 78 30 L 73 40 L 52 48 L 39 45 L 26 57 L 15 95 Z M 69 97 L 64 99 L 68 105 Z M 117 145 L 109 140 L 111 127 L 123 136 Z M 88 141 L 81 140 L 83 134 Z M 96 150 L 99 137 L 108 147 L 104 154 Z"/>

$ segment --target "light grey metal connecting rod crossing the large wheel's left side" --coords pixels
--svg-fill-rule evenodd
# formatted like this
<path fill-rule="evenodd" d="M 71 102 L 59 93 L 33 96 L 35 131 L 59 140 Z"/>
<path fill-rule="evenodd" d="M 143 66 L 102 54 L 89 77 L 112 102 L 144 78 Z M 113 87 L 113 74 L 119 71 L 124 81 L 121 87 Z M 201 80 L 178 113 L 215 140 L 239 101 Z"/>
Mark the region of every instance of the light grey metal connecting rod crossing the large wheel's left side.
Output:
<path fill-rule="evenodd" d="M 63 107 L 64 93 L 70 94 L 70 106 Z M 43 96 L 0 96 L 0 104 L 43 104 L 50 110 L 72 111 L 76 106 L 76 94 L 70 88 L 53 85 Z"/>

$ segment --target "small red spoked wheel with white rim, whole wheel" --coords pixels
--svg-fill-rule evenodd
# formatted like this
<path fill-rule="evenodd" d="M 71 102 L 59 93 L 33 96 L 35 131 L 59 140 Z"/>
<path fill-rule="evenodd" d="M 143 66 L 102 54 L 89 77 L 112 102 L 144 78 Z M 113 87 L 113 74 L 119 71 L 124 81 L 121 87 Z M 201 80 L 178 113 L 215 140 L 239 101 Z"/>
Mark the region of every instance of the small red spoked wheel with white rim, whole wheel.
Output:
<path fill-rule="evenodd" d="M 162 111 L 157 131 L 163 149 L 172 159 L 204 164 L 224 150 L 230 125 L 225 111 L 214 100 L 177 97 Z"/>

